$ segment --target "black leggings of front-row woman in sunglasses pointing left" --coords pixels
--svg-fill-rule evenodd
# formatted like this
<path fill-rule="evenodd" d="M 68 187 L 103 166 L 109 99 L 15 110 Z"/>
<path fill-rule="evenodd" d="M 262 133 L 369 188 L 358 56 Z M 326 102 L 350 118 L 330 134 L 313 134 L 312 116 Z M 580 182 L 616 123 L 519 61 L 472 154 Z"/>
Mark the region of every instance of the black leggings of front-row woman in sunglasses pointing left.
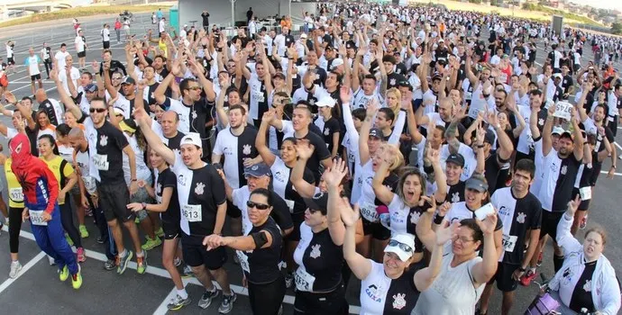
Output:
<path fill-rule="evenodd" d="M 285 296 L 285 278 L 283 274 L 270 284 L 249 283 L 249 300 L 255 315 L 277 315 Z"/>

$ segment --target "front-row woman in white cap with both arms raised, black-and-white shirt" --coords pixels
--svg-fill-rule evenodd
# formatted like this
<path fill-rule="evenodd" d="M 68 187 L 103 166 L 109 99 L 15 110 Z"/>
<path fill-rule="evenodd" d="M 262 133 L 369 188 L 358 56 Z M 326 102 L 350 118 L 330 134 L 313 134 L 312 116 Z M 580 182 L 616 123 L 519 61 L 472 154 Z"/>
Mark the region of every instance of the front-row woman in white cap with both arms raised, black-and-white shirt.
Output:
<path fill-rule="evenodd" d="M 332 203 L 331 211 L 341 212 L 345 225 L 343 257 L 352 269 L 352 274 L 361 280 L 361 314 L 393 315 L 410 314 L 418 303 L 420 293 L 426 292 L 441 271 L 443 246 L 453 238 L 457 224 L 445 224 L 436 230 L 435 242 L 427 247 L 432 250 L 430 265 L 423 269 L 409 268 L 415 253 L 415 237 L 398 233 L 390 238 L 384 248 L 382 262 L 377 263 L 362 257 L 355 250 L 354 233 L 359 219 L 358 206 L 350 206 L 347 199 Z M 428 212 L 435 211 L 433 205 Z M 430 290 L 432 290 L 430 288 Z M 435 314 L 435 312 L 429 312 Z"/>

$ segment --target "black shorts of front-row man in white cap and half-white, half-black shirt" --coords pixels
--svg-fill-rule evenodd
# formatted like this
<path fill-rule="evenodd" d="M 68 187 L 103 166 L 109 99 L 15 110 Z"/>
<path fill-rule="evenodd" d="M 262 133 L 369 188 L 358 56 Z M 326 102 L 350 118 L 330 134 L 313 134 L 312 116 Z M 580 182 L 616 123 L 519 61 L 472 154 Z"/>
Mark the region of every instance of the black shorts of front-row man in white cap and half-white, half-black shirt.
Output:
<path fill-rule="evenodd" d="M 206 266 L 209 270 L 218 270 L 227 261 L 224 247 L 207 250 L 203 245 L 203 237 L 188 236 L 181 233 L 181 251 L 188 266 Z"/>

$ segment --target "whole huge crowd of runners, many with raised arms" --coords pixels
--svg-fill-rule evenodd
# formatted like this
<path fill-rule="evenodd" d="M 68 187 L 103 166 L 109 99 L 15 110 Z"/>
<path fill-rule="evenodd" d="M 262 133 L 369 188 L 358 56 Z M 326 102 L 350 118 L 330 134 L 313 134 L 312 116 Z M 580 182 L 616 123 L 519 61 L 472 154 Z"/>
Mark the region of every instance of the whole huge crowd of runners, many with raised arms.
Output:
<path fill-rule="evenodd" d="M 202 17 L 173 35 L 153 14 L 124 56 L 104 24 L 91 63 L 79 24 L 73 46 L 42 43 L 25 60 L 6 42 L 11 278 L 30 220 L 75 289 L 89 235 L 111 272 L 161 259 L 169 310 L 194 298 L 229 313 L 228 275 L 242 272 L 254 314 L 281 313 L 288 288 L 296 314 L 347 314 L 354 278 L 361 314 L 486 314 L 495 286 L 508 314 L 518 284 L 550 264 L 551 238 L 558 311 L 617 314 L 607 232 L 585 227 L 601 171 L 617 167 L 622 40 L 430 6 L 324 4 L 302 32 L 232 38 Z M 11 92 L 16 63 L 32 94 Z M 182 275 L 205 292 L 188 296 Z"/>

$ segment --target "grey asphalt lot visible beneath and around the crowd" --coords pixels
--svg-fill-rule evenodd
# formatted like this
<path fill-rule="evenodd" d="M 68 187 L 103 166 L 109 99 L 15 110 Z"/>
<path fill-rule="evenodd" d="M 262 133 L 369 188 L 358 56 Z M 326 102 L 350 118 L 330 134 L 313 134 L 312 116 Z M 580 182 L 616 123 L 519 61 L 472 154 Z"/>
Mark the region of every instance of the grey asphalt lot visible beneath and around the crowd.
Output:
<path fill-rule="evenodd" d="M 103 23 L 114 23 L 114 15 L 102 15 L 96 17 L 81 18 L 82 28 L 86 32 L 87 44 L 87 63 L 93 59 L 100 60 L 102 48 L 101 37 L 99 31 Z M 151 28 L 151 14 L 136 14 L 137 21 L 133 23 L 133 33 L 138 38 Z M 56 21 L 53 23 L 38 23 L 22 27 L 12 27 L 0 29 L 0 41 L 6 40 L 16 41 L 15 60 L 18 64 L 23 64 L 24 58 L 30 46 L 35 51 L 41 49 L 43 41 L 47 41 L 50 47 L 55 51 L 59 49 L 60 43 L 68 43 L 69 52 L 74 56 L 74 60 L 78 60 L 75 49 L 73 48 L 74 31 L 70 20 Z M 114 38 L 114 34 L 112 36 Z M 483 36 L 485 39 L 486 36 Z M 111 49 L 113 56 L 117 59 L 123 58 L 123 43 L 111 41 Z M 544 44 L 540 44 L 537 52 L 536 62 L 539 65 L 544 63 L 546 51 Z M 582 63 L 585 64 L 592 58 L 590 49 L 584 49 Z M 5 52 L 3 51 L 5 57 Z M 617 64 L 619 69 L 619 64 Z M 44 74 L 44 71 L 43 71 Z M 45 76 L 43 76 L 45 77 Z M 10 89 L 14 91 L 16 96 L 22 97 L 31 94 L 30 78 L 25 67 L 17 67 L 17 73 L 9 76 Z M 55 86 L 50 80 L 44 81 L 44 88 L 48 92 L 50 98 L 59 98 L 59 94 L 55 91 Z M 6 117 L 0 117 L 0 122 L 10 125 L 10 120 Z M 622 143 L 619 136 L 617 143 Z M 618 155 L 622 149 L 617 145 Z M 6 139 L 0 139 L 0 144 L 6 148 Z M 610 162 L 604 163 L 603 169 L 608 170 Z M 622 264 L 615 257 L 622 256 L 622 238 L 620 236 L 619 227 L 622 225 L 621 216 L 617 213 L 620 211 L 617 202 L 620 201 L 620 181 L 622 174 L 617 174 L 613 179 L 605 178 L 601 175 L 596 193 L 590 209 L 590 219 L 588 227 L 594 224 L 600 224 L 609 232 L 608 243 L 605 249 L 605 255 L 614 267 L 619 269 Z M 4 176 L 0 181 L 5 182 Z M 4 184 L 5 186 L 5 184 Z M 3 192 L 6 196 L 6 192 Z M 617 197 L 616 197 L 617 196 Z M 6 200 L 6 197 L 5 197 Z M 41 254 L 41 250 L 32 240 L 32 234 L 29 233 L 30 227 L 23 227 L 23 238 L 21 239 L 20 261 L 24 269 L 22 275 L 16 280 L 8 279 L 9 272 L 9 247 L 8 235 L 3 233 L 0 238 L 0 305 L 7 313 L 156 313 L 162 314 L 166 312 L 166 302 L 174 293 L 174 286 L 168 279 L 167 272 L 161 266 L 161 247 L 155 248 L 149 252 L 148 263 L 149 268 L 146 275 L 138 275 L 134 270 L 128 270 L 124 275 L 116 275 L 113 272 L 106 272 L 103 269 L 103 260 L 105 260 L 104 247 L 95 242 L 96 227 L 91 220 L 87 219 L 87 228 L 91 232 L 89 238 L 84 239 L 84 246 L 87 248 L 87 262 L 82 264 L 82 272 L 84 276 L 84 284 L 79 291 L 71 289 L 69 284 L 59 284 L 56 274 L 56 268 L 48 265 L 47 259 Z M 581 234 L 581 233 L 579 233 Z M 126 241 L 129 238 L 125 238 Z M 580 237 L 582 240 L 582 236 Z M 126 244 L 131 248 L 131 244 Z M 230 252 L 230 258 L 231 252 Z M 238 295 L 238 301 L 235 302 L 232 314 L 250 314 L 250 308 L 247 292 L 242 290 L 240 267 L 233 265 L 229 259 L 225 268 L 229 271 L 231 283 L 236 285 L 233 287 Z M 135 264 L 132 265 L 135 268 Z M 541 270 L 548 276 L 553 275 L 553 258 L 552 247 L 549 244 L 544 252 L 544 264 Z M 186 279 L 188 285 L 188 293 L 193 299 L 191 305 L 179 313 L 205 313 L 215 314 L 219 302 L 213 303 L 206 311 L 197 307 L 197 301 L 201 294 L 201 288 L 196 285 L 196 279 Z M 358 313 L 356 305 L 359 304 L 360 283 L 353 281 L 348 290 L 348 301 L 351 305 L 351 312 Z M 535 284 L 530 287 L 519 286 L 516 293 L 516 302 L 513 314 L 522 314 L 529 303 L 533 300 L 537 288 Z M 294 293 L 288 290 L 285 302 L 285 314 L 292 313 L 292 302 Z M 500 293 L 495 292 L 489 306 L 489 314 L 500 313 Z"/>

